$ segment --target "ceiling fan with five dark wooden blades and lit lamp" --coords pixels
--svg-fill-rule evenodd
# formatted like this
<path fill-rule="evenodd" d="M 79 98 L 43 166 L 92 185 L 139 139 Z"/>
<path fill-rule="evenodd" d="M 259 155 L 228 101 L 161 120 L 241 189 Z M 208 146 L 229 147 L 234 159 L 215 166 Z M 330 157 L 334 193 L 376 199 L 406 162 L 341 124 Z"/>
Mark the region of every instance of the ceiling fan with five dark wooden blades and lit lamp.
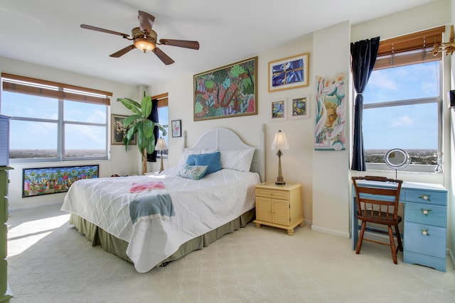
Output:
<path fill-rule="evenodd" d="M 159 59 L 163 61 L 165 65 L 170 65 L 174 62 L 174 60 L 172 60 L 171 57 L 166 55 L 162 50 L 157 48 L 156 45 L 172 45 L 178 46 L 179 48 L 191 48 L 193 50 L 199 49 L 198 41 L 172 39 L 158 40 L 156 31 L 151 29 L 151 27 L 154 25 L 155 17 L 149 13 L 145 13 L 144 11 L 139 11 L 139 16 L 137 18 L 139 18 L 140 27 L 133 28 L 131 35 L 128 35 L 126 33 L 119 33 L 117 31 L 109 31 L 105 28 L 97 28 L 96 26 L 88 26 L 87 24 L 81 24 L 80 27 L 92 31 L 100 31 L 102 33 L 121 35 L 123 38 L 133 41 L 132 45 L 128 45 L 126 48 L 122 48 L 122 50 L 109 55 L 110 57 L 121 57 L 122 55 L 128 53 L 130 50 L 138 48 L 139 50 L 144 51 L 144 53 L 148 51 L 155 53 L 155 55 L 159 57 Z"/>

